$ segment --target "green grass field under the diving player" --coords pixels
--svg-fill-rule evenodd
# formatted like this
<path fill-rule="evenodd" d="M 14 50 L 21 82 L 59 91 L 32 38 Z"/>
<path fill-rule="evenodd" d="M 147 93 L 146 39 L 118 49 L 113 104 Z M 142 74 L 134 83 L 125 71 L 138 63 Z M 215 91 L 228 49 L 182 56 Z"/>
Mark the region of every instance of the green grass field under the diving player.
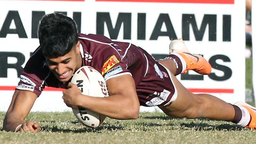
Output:
<path fill-rule="evenodd" d="M 0 129 L 5 112 L 0 112 Z M 252 144 L 256 131 L 230 122 L 174 119 L 163 113 L 140 113 L 137 120 L 106 118 L 96 129 L 82 126 L 72 112 L 30 113 L 38 133 L 0 131 L 0 144 Z M 253 140 L 250 141 L 250 140 Z"/>

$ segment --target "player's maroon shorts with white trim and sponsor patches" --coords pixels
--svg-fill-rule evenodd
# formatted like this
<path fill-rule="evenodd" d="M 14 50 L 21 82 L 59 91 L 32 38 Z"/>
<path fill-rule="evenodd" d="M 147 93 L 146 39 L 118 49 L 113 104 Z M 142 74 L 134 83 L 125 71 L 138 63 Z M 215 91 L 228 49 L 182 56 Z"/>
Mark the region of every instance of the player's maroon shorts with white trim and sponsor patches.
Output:
<path fill-rule="evenodd" d="M 145 53 L 145 56 L 147 73 L 136 87 L 140 105 L 146 107 L 169 105 L 178 95 L 171 79 L 171 72 L 151 55 Z"/>

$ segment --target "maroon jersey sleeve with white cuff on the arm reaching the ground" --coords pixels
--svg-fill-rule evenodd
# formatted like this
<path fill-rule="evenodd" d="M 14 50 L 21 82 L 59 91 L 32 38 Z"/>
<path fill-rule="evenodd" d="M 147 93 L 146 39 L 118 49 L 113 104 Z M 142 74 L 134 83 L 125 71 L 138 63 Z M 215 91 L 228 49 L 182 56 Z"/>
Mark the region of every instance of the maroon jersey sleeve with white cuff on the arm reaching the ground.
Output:
<path fill-rule="evenodd" d="M 40 48 L 37 48 L 22 70 L 16 89 L 32 91 L 39 96 L 49 74 L 50 70 L 45 63 L 45 57 L 41 54 Z"/>

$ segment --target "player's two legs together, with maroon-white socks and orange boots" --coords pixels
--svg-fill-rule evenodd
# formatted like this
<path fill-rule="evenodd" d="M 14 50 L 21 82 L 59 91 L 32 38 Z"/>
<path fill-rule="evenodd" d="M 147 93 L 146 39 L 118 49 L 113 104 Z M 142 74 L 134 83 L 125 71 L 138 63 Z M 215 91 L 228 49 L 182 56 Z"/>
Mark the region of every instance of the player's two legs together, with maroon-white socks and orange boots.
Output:
<path fill-rule="evenodd" d="M 211 72 L 210 64 L 202 56 L 190 54 L 182 40 L 171 42 L 170 53 L 167 59 L 158 62 L 167 67 L 175 76 L 186 73 L 187 70 L 194 70 L 199 74 Z M 193 94 L 183 87 L 174 75 L 171 77 L 178 91 L 178 97 L 170 105 L 160 106 L 169 116 L 226 120 L 242 127 L 256 129 L 255 107 L 246 103 L 231 105 L 210 94 Z"/>

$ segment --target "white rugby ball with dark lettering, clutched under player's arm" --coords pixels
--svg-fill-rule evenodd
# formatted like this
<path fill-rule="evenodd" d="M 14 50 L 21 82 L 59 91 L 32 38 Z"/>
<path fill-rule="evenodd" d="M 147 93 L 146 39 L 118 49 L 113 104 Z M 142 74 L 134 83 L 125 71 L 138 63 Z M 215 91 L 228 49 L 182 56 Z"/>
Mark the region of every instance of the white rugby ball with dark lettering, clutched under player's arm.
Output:
<path fill-rule="evenodd" d="M 82 66 L 79 68 L 71 79 L 71 82 L 78 86 L 82 94 L 95 97 L 108 96 L 108 89 L 105 79 L 102 75 L 91 66 Z M 95 128 L 100 126 L 106 116 L 95 113 L 83 107 L 78 109 L 72 108 L 76 118 L 85 126 Z"/>

